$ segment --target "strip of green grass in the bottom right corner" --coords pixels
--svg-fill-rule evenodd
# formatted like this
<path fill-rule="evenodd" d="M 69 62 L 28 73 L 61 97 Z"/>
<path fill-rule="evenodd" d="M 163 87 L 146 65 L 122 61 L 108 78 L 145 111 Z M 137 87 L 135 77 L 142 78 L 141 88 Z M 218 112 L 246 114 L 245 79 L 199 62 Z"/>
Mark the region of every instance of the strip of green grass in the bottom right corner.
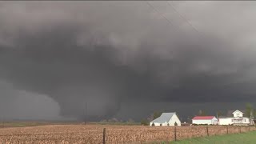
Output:
<path fill-rule="evenodd" d="M 213 137 L 203 137 L 203 138 L 191 138 L 178 142 L 169 142 L 171 144 L 254 144 L 256 142 L 256 131 L 250 131 L 242 134 L 227 134 L 227 135 L 218 135 Z"/>

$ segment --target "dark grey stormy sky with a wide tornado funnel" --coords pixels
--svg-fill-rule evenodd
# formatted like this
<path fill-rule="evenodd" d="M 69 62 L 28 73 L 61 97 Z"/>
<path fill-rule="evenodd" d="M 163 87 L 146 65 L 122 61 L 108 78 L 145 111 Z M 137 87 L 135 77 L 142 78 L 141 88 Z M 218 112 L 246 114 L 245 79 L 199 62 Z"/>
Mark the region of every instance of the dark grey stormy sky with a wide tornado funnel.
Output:
<path fill-rule="evenodd" d="M 256 102 L 255 8 L 1 2 L 2 118 L 82 118 L 87 104 L 92 118 L 138 119 Z"/>

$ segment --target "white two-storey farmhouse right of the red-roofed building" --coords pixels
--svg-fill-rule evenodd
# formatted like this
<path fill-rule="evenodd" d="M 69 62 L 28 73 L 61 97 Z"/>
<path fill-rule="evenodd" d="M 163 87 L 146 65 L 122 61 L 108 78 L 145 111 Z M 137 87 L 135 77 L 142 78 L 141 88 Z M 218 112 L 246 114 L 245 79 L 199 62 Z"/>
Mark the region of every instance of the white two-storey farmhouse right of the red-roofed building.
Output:
<path fill-rule="evenodd" d="M 250 118 L 243 117 L 242 111 L 235 110 L 232 113 L 232 116 L 225 117 L 225 118 L 218 118 L 218 125 L 236 125 L 236 126 L 242 126 L 242 125 L 250 125 Z"/>

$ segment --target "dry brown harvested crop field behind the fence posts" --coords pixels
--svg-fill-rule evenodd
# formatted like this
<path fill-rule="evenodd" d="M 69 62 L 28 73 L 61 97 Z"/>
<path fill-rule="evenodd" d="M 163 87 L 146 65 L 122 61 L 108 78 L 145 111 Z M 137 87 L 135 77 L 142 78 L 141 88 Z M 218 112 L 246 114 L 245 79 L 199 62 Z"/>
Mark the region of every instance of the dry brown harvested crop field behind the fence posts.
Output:
<path fill-rule="evenodd" d="M 174 127 L 54 125 L 0 129 L 0 143 L 102 143 L 106 128 L 106 143 L 144 143 L 174 140 Z M 241 132 L 256 130 L 243 126 Z M 180 126 L 177 139 L 207 136 L 206 126 Z M 209 135 L 240 133 L 238 126 L 209 126 Z"/>

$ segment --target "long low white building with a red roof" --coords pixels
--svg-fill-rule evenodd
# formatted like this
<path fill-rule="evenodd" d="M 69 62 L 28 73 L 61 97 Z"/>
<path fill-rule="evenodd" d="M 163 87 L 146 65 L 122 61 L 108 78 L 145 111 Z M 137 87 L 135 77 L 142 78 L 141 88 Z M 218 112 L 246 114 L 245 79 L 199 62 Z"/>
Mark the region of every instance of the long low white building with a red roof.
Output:
<path fill-rule="evenodd" d="M 217 125 L 218 119 L 214 116 L 195 116 L 192 118 L 192 124 L 197 125 Z"/>

